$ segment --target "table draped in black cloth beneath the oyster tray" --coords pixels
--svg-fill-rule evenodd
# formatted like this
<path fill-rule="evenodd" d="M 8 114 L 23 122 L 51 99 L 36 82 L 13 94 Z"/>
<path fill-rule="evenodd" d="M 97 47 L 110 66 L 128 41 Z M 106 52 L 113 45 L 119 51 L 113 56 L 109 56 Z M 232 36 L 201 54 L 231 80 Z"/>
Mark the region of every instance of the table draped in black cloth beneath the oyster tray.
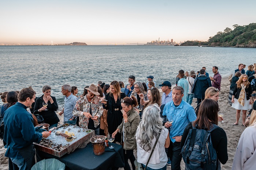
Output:
<path fill-rule="evenodd" d="M 94 155 L 92 143 L 85 148 L 77 148 L 70 154 L 57 157 L 43 151 L 36 150 L 37 162 L 42 159 L 55 158 L 66 165 L 66 170 L 114 170 L 125 167 L 123 148 L 119 144 L 112 143 L 115 148 L 105 147 L 105 153 Z"/>

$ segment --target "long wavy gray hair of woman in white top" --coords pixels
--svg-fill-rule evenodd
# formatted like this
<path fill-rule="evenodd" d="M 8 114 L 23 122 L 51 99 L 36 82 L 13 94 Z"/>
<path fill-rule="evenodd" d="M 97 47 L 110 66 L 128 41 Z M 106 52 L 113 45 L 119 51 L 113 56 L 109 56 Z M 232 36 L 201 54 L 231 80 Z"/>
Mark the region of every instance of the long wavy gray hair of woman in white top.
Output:
<path fill-rule="evenodd" d="M 160 129 L 164 129 L 163 119 L 160 117 L 160 107 L 157 104 L 146 107 L 138 127 L 140 129 L 139 145 L 148 152 L 151 150 L 153 138 L 157 137 Z"/>

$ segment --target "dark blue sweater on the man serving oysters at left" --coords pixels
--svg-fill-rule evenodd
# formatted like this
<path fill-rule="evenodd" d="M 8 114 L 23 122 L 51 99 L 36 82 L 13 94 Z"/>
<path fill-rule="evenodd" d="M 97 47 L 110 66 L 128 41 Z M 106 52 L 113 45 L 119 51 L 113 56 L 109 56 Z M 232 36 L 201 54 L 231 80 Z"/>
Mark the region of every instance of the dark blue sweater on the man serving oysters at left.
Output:
<path fill-rule="evenodd" d="M 4 141 L 7 143 L 5 156 L 22 158 L 18 149 L 27 147 L 33 142 L 39 143 L 42 133 L 37 133 L 33 125 L 32 114 L 26 106 L 17 102 L 4 112 Z"/>

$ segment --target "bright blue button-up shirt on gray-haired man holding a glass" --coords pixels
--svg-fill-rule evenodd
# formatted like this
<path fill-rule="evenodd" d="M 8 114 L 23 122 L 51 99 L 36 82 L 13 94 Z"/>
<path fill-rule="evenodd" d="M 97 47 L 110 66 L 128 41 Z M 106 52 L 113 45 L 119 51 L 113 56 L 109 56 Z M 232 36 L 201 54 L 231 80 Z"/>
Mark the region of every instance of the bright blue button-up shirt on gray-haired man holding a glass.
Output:
<path fill-rule="evenodd" d="M 182 136 L 189 122 L 196 120 L 194 108 L 189 103 L 183 101 L 183 99 L 178 107 L 175 107 L 173 101 L 166 103 L 163 116 L 166 116 L 168 120 L 173 120 L 170 130 L 172 143 L 175 142 L 175 139 L 172 139 L 172 137 Z"/>

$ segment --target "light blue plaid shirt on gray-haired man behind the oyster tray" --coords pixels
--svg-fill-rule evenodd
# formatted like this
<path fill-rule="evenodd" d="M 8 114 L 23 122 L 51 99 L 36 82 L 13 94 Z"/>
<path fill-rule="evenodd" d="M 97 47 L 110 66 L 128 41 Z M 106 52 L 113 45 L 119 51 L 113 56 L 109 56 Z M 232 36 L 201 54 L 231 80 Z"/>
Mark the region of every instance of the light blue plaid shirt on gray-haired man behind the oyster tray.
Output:
<path fill-rule="evenodd" d="M 75 103 L 77 103 L 77 97 L 71 94 L 64 99 L 64 122 L 66 123 L 68 120 L 72 118 L 72 112 L 75 107 Z"/>

